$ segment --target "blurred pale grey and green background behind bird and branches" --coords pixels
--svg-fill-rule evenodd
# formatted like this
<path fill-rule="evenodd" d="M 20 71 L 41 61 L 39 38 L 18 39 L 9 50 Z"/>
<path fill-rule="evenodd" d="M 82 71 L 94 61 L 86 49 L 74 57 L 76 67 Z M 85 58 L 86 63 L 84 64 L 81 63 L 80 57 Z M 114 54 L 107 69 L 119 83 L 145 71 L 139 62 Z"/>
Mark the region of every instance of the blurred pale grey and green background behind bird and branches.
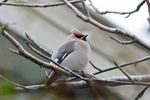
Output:
<path fill-rule="evenodd" d="M 0 0 L 1 2 L 2 0 Z M 100 2 L 101 1 L 101 2 Z M 104 1 L 104 0 L 103 0 Z M 123 0 L 120 0 L 123 1 Z M 125 3 L 120 3 L 116 6 L 106 0 L 106 4 L 112 4 L 112 8 L 116 8 L 117 11 L 126 9 L 121 9 L 126 6 L 132 6 L 133 8 L 127 9 L 131 11 L 136 8 L 136 6 L 141 2 L 140 0 L 133 0 L 134 3 L 129 3 L 127 0 L 127 5 Z M 27 4 L 47 4 L 54 2 L 61 2 L 60 0 L 11 0 L 8 2 L 13 3 L 27 3 Z M 96 2 L 93 0 L 96 7 L 104 6 L 105 3 L 102 0 Z M 121 15 L 99 15 L 91 8 L 90 3 L 86 0 L 86 4 L 91 16 L 98 22 L 110 26 L 119 27 L 131 34 L 137 34 L 143 41 L 149 44 L 149 23 L 147 5 L 145 4 L 142 9 L 131 15 L 129 18 L 124 18 Z M 101 5 L 100 5 L 101 4 Z M 77 8 L 82 11 L 81 3 L 75 4 Z M 107 7 L 107 6 L 106 6 Z M 110 6 L 109 6 L 110 7 Z M 103 7 L 104 8 L 104 7 Z M 116 10 L 109 8 L 110 10 Z M 127 8 L 127 7 L 126 7 Z M 101 9 L 101 8 L 100 8 Z M 107 9 L 107 8 L 106 8 Z M 102 10 L 106 10 L 102 9 Z M 107 10 L 109 10 L 107 9 Z M 143 17 L 141 17 L 143 16 Z M 136 19 L 138 18 L 138 19 Z M 91 46 L 91 61 L 100 69 L 106 69 L 114 66 L 114 61 L 118 64 L 130 62 L 142 57 L 148 56 L 149 51 L 142 46 L 134 43 L 130 45 L 121 45 L 113 41 L 109 36 L 115 37 L 120 40 L 126 40 L 124 37 L 110 34 L 108 32 L 102 31 L 95 26 L 83 22 L 81 19 L 77 18 L 76 15 L 70 10 L 66 5 L 48 7 L 48 8 L 29 8 L 29 7 L 14 7 L 14 6 L 0 6 L 0 24 L 9 23 L 7 31 L 15 37 L 23 47 L 35 55 L 36 57 L 49 62 L 33 51 L 31 51 L 27 45 L 27 38 L 25 37 L 25 32 L 39 43 L 42 47 L 53 52 L 70 34 L 72 28 L 76 28 L 88 34 L 88 42 Z M 10 79 L 13 82 L 22 85 L 35 85 L 44 84 L 46 82 L 45 71 L 47 69 L 40 68 L 33 62 L 25 59 L 24 57 L 18 56 L 8 51 L 8 48 L 15 47 L 2 35 L 0 35 L 0 74 L 4 77 Z M 130 65 L 123 69 L 129 75 L 144 75 L 149 74 L 150 61 L 142 62 L 137 65 Z M 90 64 L 88 65 L 87 72 L 94 73 L 97 72 Z M 114 77 L 114 76 L 124 76 L 118 69 L 105 72 L 98 75 L 99 77 Z M 0 87 L 6 85 L 6 82 L 0 80 Z M 104 100 L 133 100 L 137 94 L 143 89 L 142 86 L 119 86 L 119 87 L 104 87 L 101 89 L 100 93 L 105 98 Z M 58 95 L 63 92 L 63 89 L 59 92 L 53 90 L 46 91 L 36 91 L 36 92 L 23 92 L 23 93 L 13 93 L 10 91 L 9 95 L 1 95 L 0 100 L 95 100 L 95 96 L 91 94 L 90 89 L 72 90 L 68 89 L 66 93 L 70 97 L 60 98 L 62 96 Z M 80 91 L 80 92 L 79 92 Z M 86 92 L 85 92 L 86 91 Z M 79 95 L 76 93 L 81 93 Z M 0 91 L 1 93 L 1 91 Z M 148 100 L 150 97 L 150 91 L 145 92 L 144 96 L 140 100 Z M 74 99 L 71 97 L 73 96 Z M 78 98 L 77 98 L 78 97 Z"/>

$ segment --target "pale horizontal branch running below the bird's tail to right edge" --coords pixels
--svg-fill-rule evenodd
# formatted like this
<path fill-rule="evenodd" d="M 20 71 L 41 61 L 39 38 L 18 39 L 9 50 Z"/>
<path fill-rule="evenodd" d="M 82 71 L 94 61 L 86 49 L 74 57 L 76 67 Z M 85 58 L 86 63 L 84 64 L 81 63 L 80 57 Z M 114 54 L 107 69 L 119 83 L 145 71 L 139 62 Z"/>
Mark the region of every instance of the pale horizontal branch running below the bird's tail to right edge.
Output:
<path fill-rule="evenodd" d="M 118 76 L 118 77 L 111 77 L 111 78 L 99 78 L 95 77 L 91 78 L 93 83 L 91 85 L 95 86 L 95 84 L 99 85 L 106 85 L 106 86 L 120 86 L 120 85 L 141 85 L 141 86 L 149 86 L 150 85 L 150 75 L 136 75 L 130 76 L 135 83 L 132 83 L 126 76 Z M 77 82 L 65 82 L 68 87 L 71 88 L 86 88 L 88 87 L 86 81 L 77 81 Z M 59 83 L 53 83 L 51 87 L 58 87 Z M 38 90 L 43 89 L 44 84 L 41 85 L 31 85 L 31 86 L 24 86 L 26 89 L 29 90 Z M 17 87 L 18 90 L 24 90 L 22 88 Z"/>

